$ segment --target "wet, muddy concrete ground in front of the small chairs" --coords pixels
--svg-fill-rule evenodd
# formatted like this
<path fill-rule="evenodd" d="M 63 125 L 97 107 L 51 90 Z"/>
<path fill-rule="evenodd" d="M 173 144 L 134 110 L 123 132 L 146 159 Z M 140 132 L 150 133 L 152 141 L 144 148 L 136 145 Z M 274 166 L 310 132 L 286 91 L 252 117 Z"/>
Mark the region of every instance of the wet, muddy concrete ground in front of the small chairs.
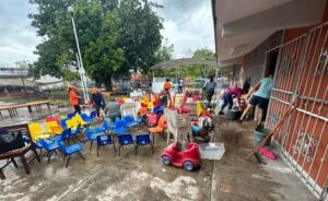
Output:
<path fill-rule="evenodd" d="M 50 164 L 46 155 L 42 163 L 34 161 L 27 176 L 22 165 L 7 167 L 0 200 L 315 200 L 281 158 L 265 164 L 245 161 L 253 147 L 253 122 L 238 125 L 224 117 L 215 117 L 215 122 L 214 141 L 223 142 L 226 152 L 221 161 L 202 161 L 196 172 L 163 166 L 160 154 L 166 143 L 161 137 L 154 154 L 150 146 L 141 146 L 137 156 L 133 146 L 126 146 L 121 156 L 106 146 L 97 157 L 96 147 L 89 151 L 86 143 L 86 161 L 74 155 L 68 168 L 60 154 Z"/>

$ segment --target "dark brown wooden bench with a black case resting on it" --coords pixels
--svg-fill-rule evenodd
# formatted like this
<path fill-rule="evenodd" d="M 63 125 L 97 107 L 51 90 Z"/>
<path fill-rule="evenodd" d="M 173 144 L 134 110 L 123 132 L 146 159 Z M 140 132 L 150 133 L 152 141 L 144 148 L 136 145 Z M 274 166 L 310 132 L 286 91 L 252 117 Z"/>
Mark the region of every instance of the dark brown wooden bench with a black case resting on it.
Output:
<path fill-rule="evenodd" d="M 27 125 L 19 125 L 19 126 L 10 126 L 10 127 L 2 127 L 2 129 L 5 129 L 5 130 L 9 130 L 9 131 L 17 131 L 17 130 L 21 130 L 22 133 L 27 133 L 28 138 L 31 139 L 31 135 L 30 135 L 30 131 L 28 131 L 28 128 L 27 128 Z M 33 156 L 31 158 L 26 158 L 25 157 L 25 154 L 28 152 L 28 151 L 32 151 L 33 152 Z M 17 164 L 15 162 L 15 157 L 20 157 L 21 161 L 22 161 L 22 164 L 23 164 L 23 167 L 25 169 L 25 173 L 26 175 L 28 175 L 31 172 L 30 172 L 30 167 L 28 167 L 28 164 L 32 163 L 35 158 L 37 158 L 38 162 L 40 162 L 39 159 L 39 156 L 35 150 L 35 146 L 33 144 L 27 144 L 25 147 L 22 147 L 22 149 L 19 149 L 19 150 L 13 150 L 13 151 L 10 151 L 10 152 L 5 152 L 5 153 L 2 153 L 0 154 L 0 161 L 2 159 L 7 159 L 5 164 L 0 167 L 0 179 L 5 179 L 5 176 L 3 174 L 3 169 L 11 163 L 13 163 L 13 165 L 17 168 Z"/>

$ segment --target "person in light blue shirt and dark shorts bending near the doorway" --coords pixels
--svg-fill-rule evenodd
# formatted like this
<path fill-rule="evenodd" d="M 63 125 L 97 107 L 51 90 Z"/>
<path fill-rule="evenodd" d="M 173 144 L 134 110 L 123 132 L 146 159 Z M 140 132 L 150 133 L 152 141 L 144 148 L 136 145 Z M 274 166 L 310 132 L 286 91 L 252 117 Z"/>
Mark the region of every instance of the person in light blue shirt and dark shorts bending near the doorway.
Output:
<path fill-rule="evenodd" d="M 258 106 L 257 127 L 258 128 L 261 127 L 263 111 L 268 108 L 272 87 L 273 87 L 272 74 L 270 74 L 268 78 L 263 78 L 259 83 L 257 83 L 255 85 L 254 90 L 248 94 L 251 94 L 257 88 L 258 90 L 253 95 L 251 99 L 249 100 L 249 104 L 248 104 L 247 108 L 244 110 L 244 113 L 239 119 L 239 122 L 243 122 L 245 116 L 250 111 L 251 108 L 254 108 L 255 106 Z M 248 97 L 246 97 L 246 98 L 248 98 Z"/>

